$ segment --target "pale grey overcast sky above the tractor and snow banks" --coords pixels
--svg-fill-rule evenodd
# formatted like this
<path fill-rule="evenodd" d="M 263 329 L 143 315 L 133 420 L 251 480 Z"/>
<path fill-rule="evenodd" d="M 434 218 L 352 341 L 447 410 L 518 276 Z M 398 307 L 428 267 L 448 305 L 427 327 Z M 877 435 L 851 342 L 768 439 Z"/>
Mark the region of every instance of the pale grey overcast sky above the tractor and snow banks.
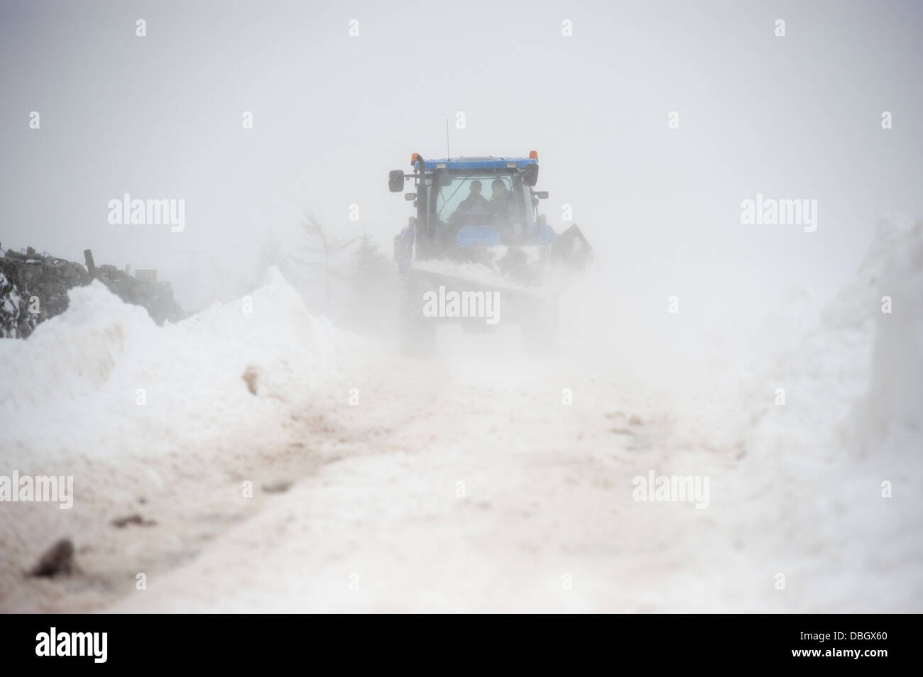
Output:
<path fill-rule="evenodd" d="M 572 205 L 606 266 L 665 289 L 833 290 L 881 216 L 923 215 L 919 2 L 0 7 L 5 249 L 249 274 L 308 209 L 390 255 L 388 171 L 445 155 L 447 119 L 452 155 L 538 150 L 549 222 Z M 110 225 L 125 193 L 185 199 L 185 230 Z M 817 231 L 742 225 L 757 193 L 816 199 Z"/>

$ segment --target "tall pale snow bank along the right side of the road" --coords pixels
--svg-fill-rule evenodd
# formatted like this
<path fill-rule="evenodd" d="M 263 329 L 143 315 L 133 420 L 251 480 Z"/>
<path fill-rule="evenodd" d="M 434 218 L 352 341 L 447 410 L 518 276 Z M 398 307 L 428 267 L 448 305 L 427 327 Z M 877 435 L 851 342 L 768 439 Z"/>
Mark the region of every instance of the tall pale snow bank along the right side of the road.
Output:
<path fill-rule="evenodd" d="M 857 279 L 741 387 L 741 501 L 762 503 L 742 531 L 797 589 L 786 610 L 919 611 L 921 263 L 923 223 L 881 221 Z"/>

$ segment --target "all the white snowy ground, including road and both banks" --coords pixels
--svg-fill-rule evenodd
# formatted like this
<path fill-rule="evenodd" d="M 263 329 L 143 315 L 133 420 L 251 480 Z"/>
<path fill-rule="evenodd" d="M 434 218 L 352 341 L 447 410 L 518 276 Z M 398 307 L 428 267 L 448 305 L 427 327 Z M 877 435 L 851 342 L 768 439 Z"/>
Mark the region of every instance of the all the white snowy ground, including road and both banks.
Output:
<path fill-rule="evenodd" d="M 923 225 L 885 222 L 821 315 L 632 338 L 583 296 L 536 362 L 513 329 L 403 358 L 275 271 L 252 314 L 166 327 L 73 291 L 0 342 L 0 475 L 76 494 L 0 503 L 0 611 L 921 612 L 921 292 Z M 708 507 L 634 501 L 649 470 L 708 476 Z M 76 575 L 23 576 L 64 536 Z"/>

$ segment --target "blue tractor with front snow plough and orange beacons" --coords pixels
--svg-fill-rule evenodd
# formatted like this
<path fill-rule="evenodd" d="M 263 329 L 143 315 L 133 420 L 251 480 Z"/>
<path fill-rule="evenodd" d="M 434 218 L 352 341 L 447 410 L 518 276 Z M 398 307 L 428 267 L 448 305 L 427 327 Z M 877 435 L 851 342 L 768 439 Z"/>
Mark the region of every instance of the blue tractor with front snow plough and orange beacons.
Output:
<path fill-rule="evenodd" d="M 413 171 L 389 174 L 392 193 L 409 181 L 414 216 L 394 238 L 402 276 L 405 346 L 435 350 L 435 327 L 460 322 L 489 330 L 523 327 L 526 343 L 557 340 L 557 292 L 584 269 L 592 248 L 571 225 L 557 233 L 538 206 L 538 154 L 528 158 L 411 157 Z M 501 308 L 502 311 L 497 310 Z"/>

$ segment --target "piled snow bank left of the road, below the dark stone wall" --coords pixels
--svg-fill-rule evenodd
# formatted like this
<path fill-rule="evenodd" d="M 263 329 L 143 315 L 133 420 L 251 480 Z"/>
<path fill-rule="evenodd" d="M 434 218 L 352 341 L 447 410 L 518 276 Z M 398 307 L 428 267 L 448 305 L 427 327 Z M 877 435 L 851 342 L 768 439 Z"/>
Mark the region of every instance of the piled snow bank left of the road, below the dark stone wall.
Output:
<path fill-rule="evenodd" d="M 325 384 L 356 351 L 275 268 L 249 296 L 163 327 L 99 282 L 69 296 L 30 339 L 0 341 L 5 466 L 271 442 L 329 408 Z"/>

